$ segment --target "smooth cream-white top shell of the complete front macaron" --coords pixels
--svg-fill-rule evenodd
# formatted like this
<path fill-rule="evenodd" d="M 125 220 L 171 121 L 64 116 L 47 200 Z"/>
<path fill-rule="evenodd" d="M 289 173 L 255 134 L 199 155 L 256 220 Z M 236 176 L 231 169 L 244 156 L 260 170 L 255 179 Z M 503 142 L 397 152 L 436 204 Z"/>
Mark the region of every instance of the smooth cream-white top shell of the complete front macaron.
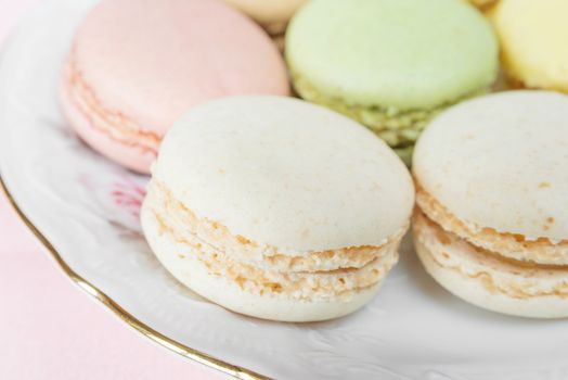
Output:
<path fill-rule="evenodd" d="M 198 217 L 283 252 L 380 245 L 408 226 L 414 203 L 410 174 L 383 141 L 283 97 L 191 110 L 152 174 Z"/>

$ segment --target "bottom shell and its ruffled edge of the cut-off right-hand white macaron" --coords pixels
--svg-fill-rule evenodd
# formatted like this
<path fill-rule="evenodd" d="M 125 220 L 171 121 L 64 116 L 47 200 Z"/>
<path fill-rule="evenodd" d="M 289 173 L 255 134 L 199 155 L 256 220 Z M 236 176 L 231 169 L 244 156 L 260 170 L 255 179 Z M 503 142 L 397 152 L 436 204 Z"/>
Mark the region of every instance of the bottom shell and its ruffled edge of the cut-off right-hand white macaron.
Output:
<path fill-rule="evenodd" d="M 504 259 L 444 231 L 419 210 L 416 253 L 426 271 L 460 299 L 492 312 L 529 318 L 568 317 L 568 267 Z"/>

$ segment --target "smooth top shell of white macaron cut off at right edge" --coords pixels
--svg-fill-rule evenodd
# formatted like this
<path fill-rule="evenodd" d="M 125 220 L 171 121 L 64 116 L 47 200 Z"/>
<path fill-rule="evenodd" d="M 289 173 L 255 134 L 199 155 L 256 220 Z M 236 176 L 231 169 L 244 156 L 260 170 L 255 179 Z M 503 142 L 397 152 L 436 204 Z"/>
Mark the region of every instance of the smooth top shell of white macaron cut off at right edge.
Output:
<path fill-rule="evenodd" d="M 511 91 L 453 106 L 418 140 L 413 172 L 470 227 L 568 239 L 568 97 Z"/>

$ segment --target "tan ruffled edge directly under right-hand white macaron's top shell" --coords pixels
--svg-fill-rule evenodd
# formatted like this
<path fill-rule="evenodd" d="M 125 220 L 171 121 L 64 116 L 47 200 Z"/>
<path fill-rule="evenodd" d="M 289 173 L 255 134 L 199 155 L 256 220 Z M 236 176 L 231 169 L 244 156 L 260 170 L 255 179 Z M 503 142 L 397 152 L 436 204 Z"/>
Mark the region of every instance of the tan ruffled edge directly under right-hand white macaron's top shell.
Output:
<path fill-rule="evenodd" d="M 522 235 L 498 232 L 460 220 L 416 181 L 416 204 L 444 230 L 474 245 L 517 261 L 547 265 L 568 264 L 568 240 L 553 242 L 547 238 L 529 239 Z"/>

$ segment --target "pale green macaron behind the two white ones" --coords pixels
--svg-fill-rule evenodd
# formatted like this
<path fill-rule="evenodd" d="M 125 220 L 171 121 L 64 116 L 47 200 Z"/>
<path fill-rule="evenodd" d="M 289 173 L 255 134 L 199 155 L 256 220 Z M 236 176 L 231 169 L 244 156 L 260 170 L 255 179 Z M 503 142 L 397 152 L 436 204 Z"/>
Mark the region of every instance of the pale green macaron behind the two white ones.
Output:
<path fill-rule="evenodd" d="M 466 1 L 312 0 L 293 17 L 286 60 L 296 92 L 371 128 L 410 162 L 429 119 L 488 91 L 490 24 Z"/>

